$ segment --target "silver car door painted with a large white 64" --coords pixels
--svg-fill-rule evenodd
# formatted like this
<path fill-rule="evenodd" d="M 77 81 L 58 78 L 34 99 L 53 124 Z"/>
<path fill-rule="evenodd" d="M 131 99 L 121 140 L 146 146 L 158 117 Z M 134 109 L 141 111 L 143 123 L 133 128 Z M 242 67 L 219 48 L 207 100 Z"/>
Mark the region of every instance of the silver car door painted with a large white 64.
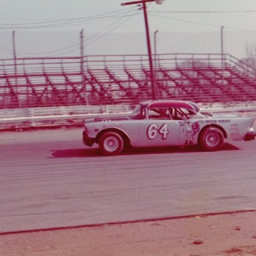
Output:
<path fill-rule="evenodd" d="M 180 135 L 184 121 L 171 119 L 148 119 L 138 124 L 137 147 L 181 145 Z"/>

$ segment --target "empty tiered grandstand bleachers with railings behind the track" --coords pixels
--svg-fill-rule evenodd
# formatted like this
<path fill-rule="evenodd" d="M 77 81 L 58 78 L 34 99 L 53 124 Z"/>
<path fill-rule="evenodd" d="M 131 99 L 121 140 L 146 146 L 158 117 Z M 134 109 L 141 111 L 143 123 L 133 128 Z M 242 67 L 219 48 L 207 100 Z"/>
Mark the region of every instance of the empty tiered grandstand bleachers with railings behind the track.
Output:
<path fill-rule="evenodd" d="M 152 99 L 147 55 L 0 60 L 0 108 L 133 104 Z M 157 99 L 256 101 L 256 70 L 225 54 L 153 56 Z"/>

